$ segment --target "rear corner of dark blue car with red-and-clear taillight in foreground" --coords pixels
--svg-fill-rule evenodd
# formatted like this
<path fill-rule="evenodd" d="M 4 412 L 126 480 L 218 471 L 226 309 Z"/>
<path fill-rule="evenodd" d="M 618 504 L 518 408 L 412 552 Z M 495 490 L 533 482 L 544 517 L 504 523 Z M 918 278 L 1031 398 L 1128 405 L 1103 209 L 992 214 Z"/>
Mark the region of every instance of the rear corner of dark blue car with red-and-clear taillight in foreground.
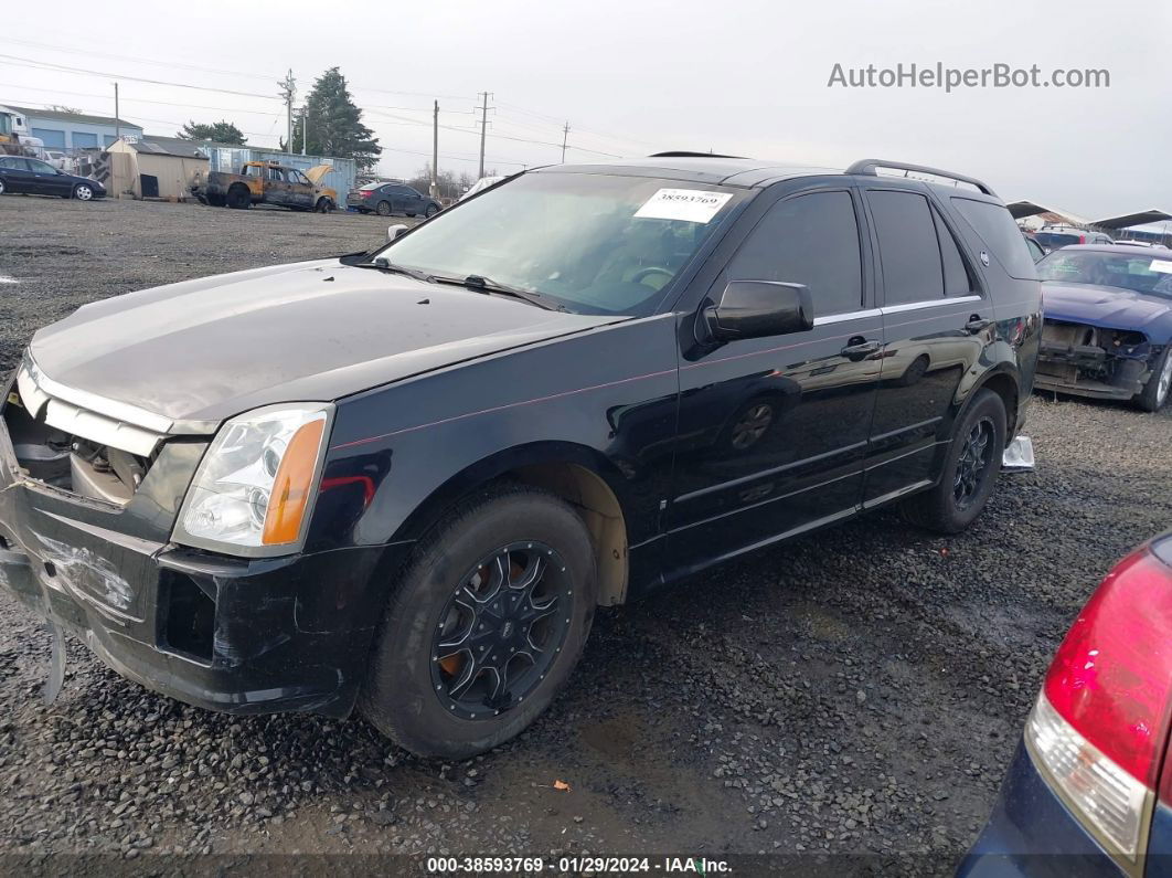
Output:
<path fill-rule="evenodd" d="M 959 878 L 1168 874 L 1172 533 L 1078 613 Z"/>

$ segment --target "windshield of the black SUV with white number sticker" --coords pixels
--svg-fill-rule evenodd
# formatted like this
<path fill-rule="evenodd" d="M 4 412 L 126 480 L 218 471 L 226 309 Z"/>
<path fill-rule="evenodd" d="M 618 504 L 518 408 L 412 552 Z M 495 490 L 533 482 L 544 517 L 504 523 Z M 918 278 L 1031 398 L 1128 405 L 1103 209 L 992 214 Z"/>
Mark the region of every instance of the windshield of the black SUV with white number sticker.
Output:
<path fill-rule="evenodd" d="M 597 173 L 527 173 L 441 213 L 380 256 L 479 275 L 584 314 L 643 315 L 728 216 L 737 190 Z"/>

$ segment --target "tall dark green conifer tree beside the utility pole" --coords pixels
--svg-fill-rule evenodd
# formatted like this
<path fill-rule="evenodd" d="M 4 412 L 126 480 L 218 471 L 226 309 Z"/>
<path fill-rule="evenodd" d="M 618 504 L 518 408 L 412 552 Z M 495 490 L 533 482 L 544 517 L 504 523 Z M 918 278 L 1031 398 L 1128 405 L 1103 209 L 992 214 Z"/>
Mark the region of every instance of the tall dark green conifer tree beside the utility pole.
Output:
<path fill-rule="evenodd" d="M 313 83 L 305 113 L 293 124 L 293 149 L 282 142 L 282 150 L 301 151 L 306 124 L 309 136 L 305 139 L 305 151 L 309 155 L 353 158 L 360 171 L 379 161 L 382 152 L 379 138 L 362 124 L 362 110 L 355 106 L 346 77 L 336 67 L 331 67 Z"/>

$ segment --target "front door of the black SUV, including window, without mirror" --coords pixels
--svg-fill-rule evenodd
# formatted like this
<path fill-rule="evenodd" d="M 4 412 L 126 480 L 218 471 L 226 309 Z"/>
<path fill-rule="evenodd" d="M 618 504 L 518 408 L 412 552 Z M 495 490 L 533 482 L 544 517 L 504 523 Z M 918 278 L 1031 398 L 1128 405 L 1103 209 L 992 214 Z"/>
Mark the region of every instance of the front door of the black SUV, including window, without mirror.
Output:
<path fill-rule="evenodd" d="M 717 278 L 714 290 L 730 280 L 806 285 L 815 327 L 710 349 L 683 342 L 666 519 L 675 573 L 858 509 L 883 341 L 864 227 L 849 188 L 792 195 Z"/>

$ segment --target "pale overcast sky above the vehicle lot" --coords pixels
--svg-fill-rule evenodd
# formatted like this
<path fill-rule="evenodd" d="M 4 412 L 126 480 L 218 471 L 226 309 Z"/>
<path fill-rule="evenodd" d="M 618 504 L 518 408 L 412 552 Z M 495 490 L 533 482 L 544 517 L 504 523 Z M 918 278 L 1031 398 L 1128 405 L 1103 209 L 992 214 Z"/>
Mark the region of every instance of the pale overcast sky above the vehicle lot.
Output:
<path fill-rule="evenodd" d="M 661 149 L 829 166 L 879 156 L 970 173 L 1007 200 L 1090 218 L 1172 210 L 1172 4 L 288 0 L 265 8 L 59 0 L 47 13 L 15 4 L 0 35 L 0 104 L 113 115 L 118 80 L 122 116 L 148 134 L 226 118 L 250 142 L 275 145 L 285 130 L 275 81 L 292 67 L 304 96 L 336 64 L 391 176 L 429 161 L 432 97 L 450 127 L 440 132 L 441 169 L 475 173 L 472 110 L 488 90 L 496 108 L 488 164 L 500 171 L 560 161 L 568 121 L 567 161 Z M 1038 64 L 1043 77 L 1106 69 L 1110 88 L 827 87 L 836 63 L 936 62 Z"/>

